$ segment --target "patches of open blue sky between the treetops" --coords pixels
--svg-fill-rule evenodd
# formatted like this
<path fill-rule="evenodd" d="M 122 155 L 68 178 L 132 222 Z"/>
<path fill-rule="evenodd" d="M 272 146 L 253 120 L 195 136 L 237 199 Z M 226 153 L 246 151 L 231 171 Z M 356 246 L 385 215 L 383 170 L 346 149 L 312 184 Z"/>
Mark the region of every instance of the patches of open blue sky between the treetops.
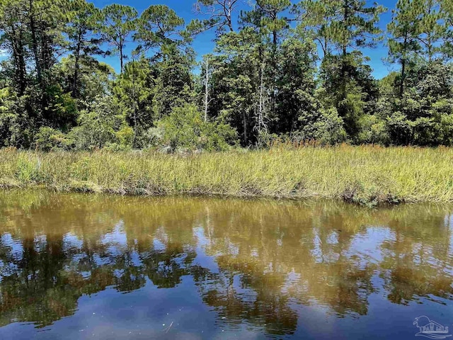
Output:
<path fill-rule="evenodd" d="M 243 0 L 244 4 L 242 5 L 243 8 L 247 8 L 247 1 L 249 0 Z M 369 4 L 372 4 L 374 1 L 369 1 L 367 0 Z M 185 19 L 186 23 L 189 23 L 190 20 L 195 18 L 195 13 L 193 12 L 193 3 L 195 0 L 159 0 L 159 1 L 153 1 L 153 0 L 93 0 L 93 3 L 102 8 L 105 5 L 112 4 L 112 3 L 117 3 L 117 4 L 125 4 L 129 6 L 134 6 L 137 8 L 137 11 L 139 13 L 142 13 L 144 9 L 148 8 L 152 4 L 165 4 L 171 8 L 173 8 L 174 11 L 178 14 L 178 16 L 182 17 Z M 381 18 L 381 23 L 380 25 L 382 26 L 383 29 L 386 27 L 386 23 L 389 22 L 391 18 L 391 9 L 394 8 L 396 4 L 396 0 L 381 0 L 377 1 L 379 4 L 382 4 L 385 6 L 388 11 L 387 13 L 384 13 Z M 205 55 L 209 52 L 212 51 L 212 48 L 214 47 L 214 43 L 212 42 L 213 32 L 211 33 L 205 33 L 200 36 L 198 36 L 195 41 L 193 42 L 193 47 L 195 48 L 195 51 L 197 52 L 198 57 Z M 130 46 L 132 47 L 132 46 Z M 369 64 L 372 66 L 374 69 L 374 77 L 380 79 L 386 74 L 389 73 L 389 71 L 393 68 L 394 66 L 385 64 L 383 62 L 383 58 L 386 57 L 387 50 L 384 44 L 380 44 L 377 46 L 377 48 L 374 49 L 367 49 L 364 51 L 364 54 L 367 55 L 368 57 L 371 58 L 371 61 Z M 119 62 L 117 61 L 117 58 L 115 57 L 108 57 L 105 58 L 105 62 L 108 62 L 111 64 L 115 69 L 119 68 Z"/>

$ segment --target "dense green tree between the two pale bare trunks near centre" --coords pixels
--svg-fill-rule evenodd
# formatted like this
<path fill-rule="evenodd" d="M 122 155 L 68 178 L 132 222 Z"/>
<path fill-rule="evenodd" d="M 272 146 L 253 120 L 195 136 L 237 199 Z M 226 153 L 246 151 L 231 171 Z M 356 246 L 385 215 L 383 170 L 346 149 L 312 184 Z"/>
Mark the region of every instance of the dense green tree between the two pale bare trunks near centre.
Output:
<path fill-rule="evenodd" d="M 267 92 L 262 92 L 261 42 L 253 28 L 222 35 L 212 60 L 210 111 L 214 112 L 210 116 L 225 117 L 247 146 L 257 142 L 260 127 L 256 123 L 265 120 L 263 115 L 268 106 L 267 98 L 263 98 Z"/>

